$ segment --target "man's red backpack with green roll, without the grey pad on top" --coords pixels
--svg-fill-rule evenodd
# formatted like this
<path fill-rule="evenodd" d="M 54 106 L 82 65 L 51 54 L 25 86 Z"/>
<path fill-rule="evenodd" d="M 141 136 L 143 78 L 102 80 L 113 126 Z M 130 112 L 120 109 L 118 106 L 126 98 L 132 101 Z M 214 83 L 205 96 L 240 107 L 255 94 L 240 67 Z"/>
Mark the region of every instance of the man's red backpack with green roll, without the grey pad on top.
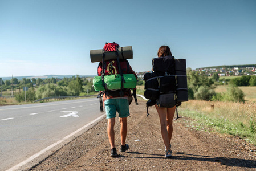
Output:
<path fill-rule="evenodd" d="M 135 103 L 137 104 L 136 98 L 136 83 L 137 79 L 135 75 L 129 74 L 130 65 L 128 60 L 119 59 L 117 53 L 117 48 L 119 44 L 105 43 L 103 47 L 102 62 L 99 63 L 97 68 L 97 75 L 94 78 L 94 89 L 99 91 L 100 98 L 100 111 L 103 112 L 102 95 L 106 93 L 107 95 L 119 95 L 120 97 L 124 95 L 124 91 L 128 89 L 133 89 L 133 97 L 135 98 Z M 105 52 L 115 51 L 116 59 L 104 60 Z"/>

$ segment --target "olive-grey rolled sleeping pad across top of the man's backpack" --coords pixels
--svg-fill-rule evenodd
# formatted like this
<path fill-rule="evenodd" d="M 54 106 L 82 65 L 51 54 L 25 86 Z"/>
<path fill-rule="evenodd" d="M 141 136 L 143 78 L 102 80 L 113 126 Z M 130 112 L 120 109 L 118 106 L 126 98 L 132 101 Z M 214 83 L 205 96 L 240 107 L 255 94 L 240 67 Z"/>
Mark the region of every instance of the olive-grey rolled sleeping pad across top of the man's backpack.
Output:
<path fill-rule="evenodd" d="M 125 46 L 125 47 L 119 47 L 117 49 L 119 59 L 132 59 L 133 54 L 132 54 L 132 46 Z M 103 54 L 103 49 L 99 50 L 91 50 L 90 51 L 90 56 L 91 56 L 91 62 L 101 62 L 102 61 L 102 54 Z M 113 60 L 116 59 L 116 52 L 115 51 L 107 51 L 105 52 L 105 59 L 106 60 Z"/>

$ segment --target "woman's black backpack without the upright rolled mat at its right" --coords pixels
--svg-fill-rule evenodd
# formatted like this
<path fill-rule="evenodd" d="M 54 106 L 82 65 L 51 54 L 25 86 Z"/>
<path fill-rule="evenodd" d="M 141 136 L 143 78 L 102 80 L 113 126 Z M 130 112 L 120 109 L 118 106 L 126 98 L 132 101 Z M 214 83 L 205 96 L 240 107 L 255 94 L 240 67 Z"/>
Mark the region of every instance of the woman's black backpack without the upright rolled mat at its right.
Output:
<path fill-rule="evenodd" d="M 144 96 L 156 100 L 159 107 L 174 107 L 176 105 L 177 75 L 173 56 L 154 58 L 153 71 L 144 75 Z"/>

